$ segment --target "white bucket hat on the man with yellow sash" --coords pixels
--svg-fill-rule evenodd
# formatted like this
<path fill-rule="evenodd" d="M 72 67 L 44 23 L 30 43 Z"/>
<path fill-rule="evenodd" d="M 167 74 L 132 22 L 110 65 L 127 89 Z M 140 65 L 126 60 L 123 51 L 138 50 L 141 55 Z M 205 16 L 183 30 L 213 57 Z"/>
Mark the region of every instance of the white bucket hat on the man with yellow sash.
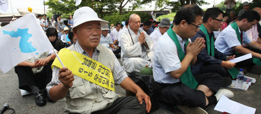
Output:
<path fill-rule="evenodd" d="M 73 28 L 84 23 L 87 21 L 93 21 L 93 20 L 98 20 L 100 21 L 100 25 L 103 26 L 107 23 L 108 21 L 102 20 L 98 17 L 97 13 L 90 7 L 88 6 L 83 6 L 80 7 L 79 9 L 75 10 L 73 14 L 73 27 L 71 31 L 73 31 Z"/>

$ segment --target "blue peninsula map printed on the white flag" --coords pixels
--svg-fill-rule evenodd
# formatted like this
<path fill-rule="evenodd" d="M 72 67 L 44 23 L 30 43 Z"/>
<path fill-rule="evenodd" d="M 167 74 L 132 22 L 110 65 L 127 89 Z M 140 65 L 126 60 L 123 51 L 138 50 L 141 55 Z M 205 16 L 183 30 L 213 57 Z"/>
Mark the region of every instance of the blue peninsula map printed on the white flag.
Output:
<path fill-rule="evenodd" d="M 21 52 L 29 53 L 34 52 L 37 49 L 32 45 L 32 42 L 28 42 L 29 38 L 32 37 L 32 34 L 28 33 L 29 28 L 20 29 L 18 28 L 17 31 L 5 31 L 3 30 L 4 34 L 9 34 L 11 37 L 21 37 L 19 42 L 19 47 Z"/>

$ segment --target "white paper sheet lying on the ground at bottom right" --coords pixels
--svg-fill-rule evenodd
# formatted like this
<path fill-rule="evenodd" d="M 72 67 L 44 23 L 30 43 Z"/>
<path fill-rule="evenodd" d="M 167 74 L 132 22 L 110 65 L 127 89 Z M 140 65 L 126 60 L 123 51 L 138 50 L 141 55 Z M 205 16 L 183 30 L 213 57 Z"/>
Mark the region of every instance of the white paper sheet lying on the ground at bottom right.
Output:
<path fill-rule="evenodd" d="M 231 114 L 254 114 L 256 110 L 255 108 L 230 100 L 224 95 L 221 96 L 214 109 L 221 112 L 225 111 Z"/>

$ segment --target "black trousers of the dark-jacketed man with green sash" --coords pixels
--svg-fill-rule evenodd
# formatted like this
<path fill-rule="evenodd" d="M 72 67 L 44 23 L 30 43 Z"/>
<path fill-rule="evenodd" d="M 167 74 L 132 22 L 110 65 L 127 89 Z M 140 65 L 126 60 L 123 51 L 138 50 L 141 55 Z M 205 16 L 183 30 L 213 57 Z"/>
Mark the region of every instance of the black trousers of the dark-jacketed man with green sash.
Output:
<path fill-rule="evenodd" d="M 232 78 L 232 76 L 229 74 L 227 69 L 221 66 L 220 64 L 204 64 L 200 67 L 199 73 L 208 73 L 208 72 L 218 73 L 221 76 Z"/>

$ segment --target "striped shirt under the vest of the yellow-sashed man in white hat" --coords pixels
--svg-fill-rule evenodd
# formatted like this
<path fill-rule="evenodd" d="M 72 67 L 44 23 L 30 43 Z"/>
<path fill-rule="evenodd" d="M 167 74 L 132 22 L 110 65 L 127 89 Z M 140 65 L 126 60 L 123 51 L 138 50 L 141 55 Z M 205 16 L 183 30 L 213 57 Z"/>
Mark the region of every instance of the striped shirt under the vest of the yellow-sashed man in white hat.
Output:
<path fill-rule="evenodd" d="M 74 48 L 77 52 L 88 56 L 88 53 L 82 49 L 82 47 L 80 46 L 80 44 L 78 43 L 78 41 L 76 41 L 76 43 L 74 44 Z M 94 48 L 94 52 L 92 54 L 92 59 L 98 61 L 98 55 L 99 55 L 100 51 L 98 48 Z M 58 85 L 61 81 L 58 79 L 58 74 L 59 74 L 59 67 L 54 66 L 53 67 L 53 78 L 51 80 L 50 83 L 47 84 L 46 89 L 49 93 L 50 89 L 54 86 L 54 85 Z M 114 83 L 115 84 L 120 84 L 125 78 L 127 77 L 126 72 L 122 69 L 122 67 L 119 64 L 118 59 L 116 58 L 116 56 L 114 55 L 114 72 L 113 72 L 113 79 L 114 79 Z"/>

